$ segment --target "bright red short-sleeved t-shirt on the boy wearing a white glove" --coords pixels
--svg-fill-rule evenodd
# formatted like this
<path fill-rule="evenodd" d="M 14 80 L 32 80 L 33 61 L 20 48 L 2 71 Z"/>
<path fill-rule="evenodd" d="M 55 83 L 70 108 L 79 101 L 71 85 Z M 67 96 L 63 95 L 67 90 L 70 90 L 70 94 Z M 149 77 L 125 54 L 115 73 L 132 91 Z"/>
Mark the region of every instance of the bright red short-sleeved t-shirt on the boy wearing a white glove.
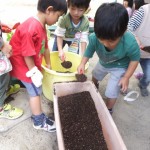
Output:
<path fill-rule="evenodd" d="M 31 17 L 17 28 L 10 45 L 13 49 L 13 55 L 10 58 L 13 66 L 11 75 L 31 83 L 31 79 L 26 77 L 29 69 L 24 57 L 33 56 L 35 66 L 41 70 L 42 56 L 45 48 L 48 48 L 46 29 L 37 19 Z"/>

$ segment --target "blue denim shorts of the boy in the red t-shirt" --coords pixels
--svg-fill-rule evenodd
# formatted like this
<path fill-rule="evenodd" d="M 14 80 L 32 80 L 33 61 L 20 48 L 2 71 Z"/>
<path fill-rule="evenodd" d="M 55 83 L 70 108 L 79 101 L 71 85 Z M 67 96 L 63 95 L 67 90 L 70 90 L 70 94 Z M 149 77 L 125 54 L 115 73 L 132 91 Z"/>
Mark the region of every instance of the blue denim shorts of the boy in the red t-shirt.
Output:
<path fill-rule="evenodd" d="M 27 89 L 30 97 L 40 96 L 42 94 L 42 86 L 36 87 L 33 83 L 21 81 Z"/>

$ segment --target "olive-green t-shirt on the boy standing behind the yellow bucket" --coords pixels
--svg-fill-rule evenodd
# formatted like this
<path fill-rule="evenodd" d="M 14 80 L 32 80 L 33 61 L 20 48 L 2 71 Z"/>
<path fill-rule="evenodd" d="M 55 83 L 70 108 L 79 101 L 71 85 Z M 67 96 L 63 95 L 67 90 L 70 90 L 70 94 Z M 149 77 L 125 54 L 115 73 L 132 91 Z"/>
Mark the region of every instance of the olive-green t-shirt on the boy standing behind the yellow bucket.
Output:
<path fill-rule="evenodd" d="M 60 17 L 58 26 L 66 29 L 65 38 L 74 38 L 77 32 L 89 32 L 89 20 L 86 16 L 81 17 L 79 25 L 75 27 L 70 14 L 67 13 L 65 16 Z"/>

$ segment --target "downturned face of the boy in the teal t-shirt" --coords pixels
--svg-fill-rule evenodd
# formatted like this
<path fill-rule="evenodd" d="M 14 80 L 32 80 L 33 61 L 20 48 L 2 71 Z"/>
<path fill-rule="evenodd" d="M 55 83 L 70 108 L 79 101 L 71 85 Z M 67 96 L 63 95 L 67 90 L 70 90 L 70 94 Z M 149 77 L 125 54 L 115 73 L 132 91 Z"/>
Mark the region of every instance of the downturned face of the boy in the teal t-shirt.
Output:
<path fill-rule="evenodd" d="M 105 47 L 107 47 L 109 50 L 113 50 L 117 44 L 120 41 L 120 37 L 117 38 L 116 40 L 103 40 L 99 39 L 100 43 L 102 43 Z"/>

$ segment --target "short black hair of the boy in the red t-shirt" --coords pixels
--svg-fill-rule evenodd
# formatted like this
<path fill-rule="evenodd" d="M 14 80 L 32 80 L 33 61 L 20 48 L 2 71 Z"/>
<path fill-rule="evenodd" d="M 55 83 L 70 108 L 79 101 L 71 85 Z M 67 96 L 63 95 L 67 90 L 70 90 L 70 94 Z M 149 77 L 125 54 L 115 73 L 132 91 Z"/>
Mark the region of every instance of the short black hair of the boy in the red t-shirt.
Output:
<path fill-rule="evenodd" d="M 67 12 L 66 0 L 38 0 L 37 10 L 44 13 L 49 6 L 53 6 L 54 11 Z"/>

